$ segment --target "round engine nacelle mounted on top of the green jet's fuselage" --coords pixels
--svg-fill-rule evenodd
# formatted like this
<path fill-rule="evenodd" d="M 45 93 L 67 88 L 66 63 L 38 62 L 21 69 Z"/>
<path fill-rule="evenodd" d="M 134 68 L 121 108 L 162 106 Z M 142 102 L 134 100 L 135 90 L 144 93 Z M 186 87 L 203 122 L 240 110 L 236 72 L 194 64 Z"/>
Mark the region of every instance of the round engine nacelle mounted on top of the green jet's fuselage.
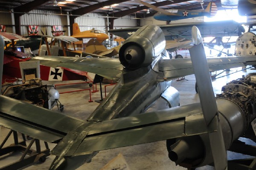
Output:
<path fill-rule="evenodd" d="M 123 42 L 119 50 L 119 60 L 128 69 L 146 67 L 161 55 L 165 45 L 165 37 L 160 27 L 146 25 Z"/>

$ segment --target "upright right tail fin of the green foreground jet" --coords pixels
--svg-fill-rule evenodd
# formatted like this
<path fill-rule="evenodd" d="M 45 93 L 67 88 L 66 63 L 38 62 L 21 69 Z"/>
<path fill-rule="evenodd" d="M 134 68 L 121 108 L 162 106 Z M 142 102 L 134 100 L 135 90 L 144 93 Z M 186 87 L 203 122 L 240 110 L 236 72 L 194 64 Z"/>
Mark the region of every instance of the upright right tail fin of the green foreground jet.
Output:
<path fill-rule="evenodd" d="M 195 45 L 189 49 L 189 53 L 198 85 L 198 94 L 204 119 L 207 126 L 209 124 L 214 124 L 217 128 L 216 133 L 208 134 L 215 170 L 225 170 L 227 169 L 227 152 L 225 149 L 221 124 L 218 119 L 218 108 L 212 89 L 212 81 L 204 52 L 203 41 L 196 26 L 192 27 L 192 41 Z"/>

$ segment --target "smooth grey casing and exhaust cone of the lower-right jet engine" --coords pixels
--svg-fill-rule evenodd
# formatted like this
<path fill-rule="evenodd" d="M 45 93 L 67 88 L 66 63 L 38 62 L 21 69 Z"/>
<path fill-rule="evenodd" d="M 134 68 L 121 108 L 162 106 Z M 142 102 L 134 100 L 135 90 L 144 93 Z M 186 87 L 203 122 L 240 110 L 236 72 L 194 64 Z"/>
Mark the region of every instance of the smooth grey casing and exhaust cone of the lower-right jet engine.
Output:
<path fill-rule="evenodd" d="M 217 98 L 216 103 L 227 150 L 244 132 L 246 118 L 242 109 L 233 101 Z M 180 166 L 194 168 L 213 162 L 208 134 L 169 139 L 166 141 L 166 146 L 169 158 Z"/>

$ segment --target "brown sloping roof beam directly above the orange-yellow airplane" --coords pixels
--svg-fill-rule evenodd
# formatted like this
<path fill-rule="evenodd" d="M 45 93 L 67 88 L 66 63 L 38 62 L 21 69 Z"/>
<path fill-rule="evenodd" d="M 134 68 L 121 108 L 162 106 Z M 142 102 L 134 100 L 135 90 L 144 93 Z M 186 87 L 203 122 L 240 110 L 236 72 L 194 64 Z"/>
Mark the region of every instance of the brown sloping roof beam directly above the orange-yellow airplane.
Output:
<path fill-rule="evenodd" d="M 107 0 L 107 1 L 104 1 L 101 3 L 96 3 L 96 4 L 93 4 L 90 6 L 86 6 L 86 7 L 80 8 L 80 9 L 75 9 L 72 11 L 72 14 L 73 15 L 84 15 L 84 14 L 92 12 L 96 9 L 102 8 L 103 6 L 109 6 L 109 5 L 112 5 L 115 3 L 122 3 L 122 2 L 126 2 L 126 1 L 128 1 L 128 0 Z"/>

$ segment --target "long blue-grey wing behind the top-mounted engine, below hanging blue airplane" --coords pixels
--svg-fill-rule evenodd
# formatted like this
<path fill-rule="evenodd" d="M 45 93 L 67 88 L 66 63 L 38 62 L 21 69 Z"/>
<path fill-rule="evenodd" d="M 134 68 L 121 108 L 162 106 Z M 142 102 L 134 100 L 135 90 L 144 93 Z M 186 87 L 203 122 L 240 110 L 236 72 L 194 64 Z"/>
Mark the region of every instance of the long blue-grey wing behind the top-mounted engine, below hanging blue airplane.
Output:
<path fill-rule="evenodd" d="M 158 25 L 166 37 L 166 40 L 176 37 L 185 37 L 191 39 L 192 26 L 197 26 L 202 37 L 224 37 L 224 36 L 239 36 L 240 32 L 244 32 L 241 23 L 233 20 L 229 21 L 214 21 L 214 22 L 196 22 L 196 23 L 174 23 L 170 25 Z M 108 32 L 119 37 L 128 38 L 140 27 L 127 29 L 112 29 Z"/>

